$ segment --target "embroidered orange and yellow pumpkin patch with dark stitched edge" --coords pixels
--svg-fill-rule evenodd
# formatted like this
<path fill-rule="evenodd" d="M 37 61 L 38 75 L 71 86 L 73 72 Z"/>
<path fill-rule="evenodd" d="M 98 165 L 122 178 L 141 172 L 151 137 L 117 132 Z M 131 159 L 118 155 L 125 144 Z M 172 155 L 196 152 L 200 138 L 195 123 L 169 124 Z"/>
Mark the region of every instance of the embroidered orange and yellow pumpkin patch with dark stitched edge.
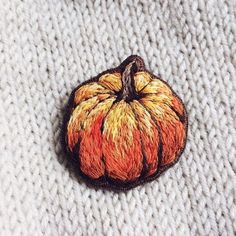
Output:
<path fill-rule="evenodd" d="M 184 105 L 173 90 L 130 56 L 71 94 L 66 149 L 90 183 L 127 189 L 158 177 L 182 153 Z"/>

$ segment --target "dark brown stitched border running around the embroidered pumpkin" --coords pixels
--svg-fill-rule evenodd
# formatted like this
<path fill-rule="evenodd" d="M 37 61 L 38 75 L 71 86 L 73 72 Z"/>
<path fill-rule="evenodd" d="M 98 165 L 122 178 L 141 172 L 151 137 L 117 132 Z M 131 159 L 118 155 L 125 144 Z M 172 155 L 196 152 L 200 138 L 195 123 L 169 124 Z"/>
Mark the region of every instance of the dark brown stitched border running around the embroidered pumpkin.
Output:
<path fill-rule="evenodd" d="M 170 90 L 172 91 L 173 93 L 173 96 L 175 96 L 176 98 L 178 98 L 180 100 L 180 103 L 183 105 L 183 108 L 184 108 L 184 125 L 185 125 L 185 129 L 186 129 L 186 137 L 185 137 L 185 140 L 184 140 L 184 145 L 182 147 L 182 149 L 180 150 L 180 153 L 179 155 L 176 157 L 175 161 L 172 162 L 171 164 L 167 165 L 167 166 L 164 166 L 162 168 L 160 168 L 154 175 L 152 176 L 149 176 L 147 178 L 143 178 L 143 179 L 137 179 L 135 180 L 134 182 L 128 182 L 128 183 L 124 183 L 122 181 L 117 181 L 117 180 L 114 180 L 114 179 L 111 179 L 111 178 L 106 178 L 106 177 L 101 177 L 97 180 L 94 180 L 94 179 L 91 179 L 89 178 L 88 176 L 86 176 L 80 169 L 80 163 L 79 163 L 79 158 L 75 158 L 75 153 L 71 152 L 69 149 L 68 149 L 68 144 L 67 144 L 67 125 L 68 125 L 68 121 L 70 119 L 70 116 L 71 116 L 71 112 L 73 111 L 73 108 L 74 108 L 74 94 L 75 92 L 78 90 L 78 88 L 80 88 L 81 86 L 85 85 L 85 84 L 88 84 L 90 82 L 97 82 L 98 79 L 104 75 L 104 74 L 107 74 L 107 73 L 117 73 L 117 72 L 120 72 L 122 73 L 122 71 L 124 70 L 125 66 L 130 63 L 132 60 L 134 59 L 137 59 L 141 62 L 141 64 L 143 63 L 143 60 L 141 57 L 137 56 L 137 55 L 131 55 L 129 56 L 128 58 L 126 58 L 121 64 L 120 66 L 116 67 L 116 68 L 113 68 L 113 69 L 108 69 L 100 74 L 98 74 L 96 77 L 93 77 L 83 83 L 81 83 L 80 85 L 78 85 L 71 93 L 70 97 L 69 97 L 69 101 L 67 103 L 67 106 L 66 106 L 66 109 L 65 109 L 65 113 L 64 113 L 64 116 L 63 116 L 63 127 L 62 127 L 62 130 L 61 130 L 61 135 L 62 135 L 62 145 L 64 147 L 64 150 L 65 150 L 65 153 L 70 157 L 69 161 L 72 161 L 73 165 L 75 167 L 77 167 L 77 172 L 79 174 L 79 176 L 81 176 L 84 181 L 90 185 L 90 186 L 93 186 L 93 187 L 104 187 L 106 189 L 110 189 L 110 190 L 113 190 L 113 191 L 126 191 L 126 190 L 129 190 L 131 188 L 134 188 L 134 187 L 137 187 L 143 183 L 147 183 L 147 182 L 151 182 L 155 179 L 157 179 L 162 173 L 164 173 L 167 169 L 169 169 L 170 167 L 174 166 L 180 159 L 180 156 L 182 155 L 185 147 L 186 147 L 186 142 L 187 142 L 187 136 L 188 136 L 188 115 L 187 115 L 187 111 L 186 111 L 186 108 L 184 106 L 184 103 L 183 101 L 181 100 L 181 98 L 173 91 L 173 89 L 168 85 L 168 83 L 164 80 L 162 80 L 161 78 L 153 75 L 149 70 L 147 70 L 143 65 L 142 69 L 140 71 L 144 71 L 144 72 L 147 72 L 149 73 L 154 79 L 159 79 L 161 80 L 163 83 L 165 83 L 169 88 Z"/>

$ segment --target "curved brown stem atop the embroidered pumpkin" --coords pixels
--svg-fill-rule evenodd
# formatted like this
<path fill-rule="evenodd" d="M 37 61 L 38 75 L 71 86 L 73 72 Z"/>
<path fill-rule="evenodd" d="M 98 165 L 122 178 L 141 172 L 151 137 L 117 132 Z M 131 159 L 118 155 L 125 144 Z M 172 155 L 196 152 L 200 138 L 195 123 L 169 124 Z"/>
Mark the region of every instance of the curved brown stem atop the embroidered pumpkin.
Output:
<path fill-rule="evenodd" d="M 122 73 L 122 85 L 123 89 L 121 92 L 121 98 L 125 101 L 133 100 L 137 97 L 137 92 L 134 85 L 134 74 L 138 71 L 144 69 L 144 64 L 142 59 L 139 57 L 134 57 L 134 59 L 129 62 Z"/>

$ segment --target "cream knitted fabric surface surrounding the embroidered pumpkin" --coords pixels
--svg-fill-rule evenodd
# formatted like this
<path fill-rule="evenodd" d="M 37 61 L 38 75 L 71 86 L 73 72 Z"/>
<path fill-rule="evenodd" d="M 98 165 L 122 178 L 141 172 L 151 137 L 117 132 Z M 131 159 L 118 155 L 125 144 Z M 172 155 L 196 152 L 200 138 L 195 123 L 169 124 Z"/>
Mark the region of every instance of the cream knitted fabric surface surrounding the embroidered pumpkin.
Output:
<path fill-rule="evenodd" d="M 1 235 L 235 235 L 234 0 L 0 0 Z M 89 188 L 60 143 L 80 82 L 140 55 L 189 115 L 180 162 Z"/>

